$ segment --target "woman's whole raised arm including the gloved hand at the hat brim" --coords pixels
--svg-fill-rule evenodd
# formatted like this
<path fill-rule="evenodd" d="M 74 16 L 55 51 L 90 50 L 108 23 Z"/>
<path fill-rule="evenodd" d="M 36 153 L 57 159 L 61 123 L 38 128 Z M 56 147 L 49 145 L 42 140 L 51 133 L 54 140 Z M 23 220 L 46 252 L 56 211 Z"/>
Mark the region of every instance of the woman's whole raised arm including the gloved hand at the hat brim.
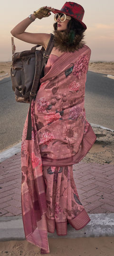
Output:
<path fill-rule="evenodd" d="M 49 17 L 51 15 L 50 11 L 54 10 L 51 7 L 42 7 L 41 9 L 35 11 L 32 15 L 31 18 L 33 20 L 42 19 L 45 17 Z M 33 21 L 30 20 L 29 18 L 26 18 L 25 20 L 22 20 L 19 22 L 18 25 L 16 25 L 10 32 L 12 36 L 25 41 L 27 43 L 32 43 L 32 44 L 39 44 L 42 45 L 45 49 L 47 48 L 48 41 L 50 39 L 50 34 L 46 33 L 28 33 L 25 32 L 25 30 L 28 28 L 28 26 L 32 23 Z"/>

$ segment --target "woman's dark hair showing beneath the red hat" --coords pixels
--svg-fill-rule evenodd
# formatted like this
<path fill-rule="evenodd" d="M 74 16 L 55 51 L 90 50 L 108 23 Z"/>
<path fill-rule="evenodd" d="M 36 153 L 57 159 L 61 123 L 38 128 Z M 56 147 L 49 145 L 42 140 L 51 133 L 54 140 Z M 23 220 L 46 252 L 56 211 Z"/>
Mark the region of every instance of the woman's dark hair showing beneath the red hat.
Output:
<path fill-rule="evenodd" d="M 57 30 L 57 22 L 54 23 L 54 30 Z M 68 24 L 67 24 L 67 32 L 69 33 L 70 30 L 74 30 L 76 35 L 80 35 L 82 36 L 83 33 L 85 32 L 85 29 L 83 28 L 82 24 L 80 22 L 78 22 L 77 20 L 75 20 L 74 18 L 72 18 L 71 20 L 69 20 Z"/>

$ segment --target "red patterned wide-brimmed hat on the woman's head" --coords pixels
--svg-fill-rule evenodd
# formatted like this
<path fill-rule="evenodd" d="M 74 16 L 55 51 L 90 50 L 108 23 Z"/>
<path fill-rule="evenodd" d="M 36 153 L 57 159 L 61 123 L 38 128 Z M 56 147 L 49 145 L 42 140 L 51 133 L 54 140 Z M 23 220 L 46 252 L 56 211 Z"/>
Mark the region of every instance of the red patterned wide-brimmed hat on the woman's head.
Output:
<path fill-rule="evenodd" d="M 66 2 L 64 6 L 61 8 L 61 10 L 55 9 L 52 12 L 62 12 L 68 16 L 73 17 L 75 20 L 79 21 L 79 23 L 81 23 L 84 29 L 86 30 L 86 25 L 82 22 L 85 10 L 80 4 L 74 2 Z"/>

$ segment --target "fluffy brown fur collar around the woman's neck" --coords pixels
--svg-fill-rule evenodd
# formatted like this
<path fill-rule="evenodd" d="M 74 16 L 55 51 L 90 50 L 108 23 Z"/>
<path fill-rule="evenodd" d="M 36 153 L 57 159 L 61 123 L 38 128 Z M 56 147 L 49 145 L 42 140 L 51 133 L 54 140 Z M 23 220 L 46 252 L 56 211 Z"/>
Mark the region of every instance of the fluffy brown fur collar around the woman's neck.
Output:
<path fill-rule="evenodd" d="M 82 39 L 84 35 L 75 35 L 71 30 L 69 33 L 66 31 L 54 31 L 54 46 L 62 52 L 74 52 L 84 46 Z"/>

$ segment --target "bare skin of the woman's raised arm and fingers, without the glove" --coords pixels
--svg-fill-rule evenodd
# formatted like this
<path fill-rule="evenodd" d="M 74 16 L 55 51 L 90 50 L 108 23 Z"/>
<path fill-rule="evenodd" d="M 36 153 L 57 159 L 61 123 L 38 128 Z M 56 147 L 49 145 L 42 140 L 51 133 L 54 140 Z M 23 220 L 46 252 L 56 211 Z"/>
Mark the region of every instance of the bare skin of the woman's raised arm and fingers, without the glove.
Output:
<path fill-rule="evenodd" d="M 47 7 L 48 10 L 53 10 L 51 7 Z M 49 12 L 49 15 L 51 13 Z M 48 15 L 48 16 L 49 16 Z M 36 19 L 36 16 L 32 14 L 32 19 Z M 32 23 L 32 21 L 29 18 L 26 18 L 25 20 L 22 20 L 19 22 L 18 25 L 16 25 L 10 32 L 12 36 L 28 42 L 32 44 L 39 44 L 42 45 L 45 49 L 47 48 L 48 41 L 50 39 L 50 34 L 45 33 L 28 33 L 25 32 L 25 30 L 28 28 L 28 26 Z"/>

